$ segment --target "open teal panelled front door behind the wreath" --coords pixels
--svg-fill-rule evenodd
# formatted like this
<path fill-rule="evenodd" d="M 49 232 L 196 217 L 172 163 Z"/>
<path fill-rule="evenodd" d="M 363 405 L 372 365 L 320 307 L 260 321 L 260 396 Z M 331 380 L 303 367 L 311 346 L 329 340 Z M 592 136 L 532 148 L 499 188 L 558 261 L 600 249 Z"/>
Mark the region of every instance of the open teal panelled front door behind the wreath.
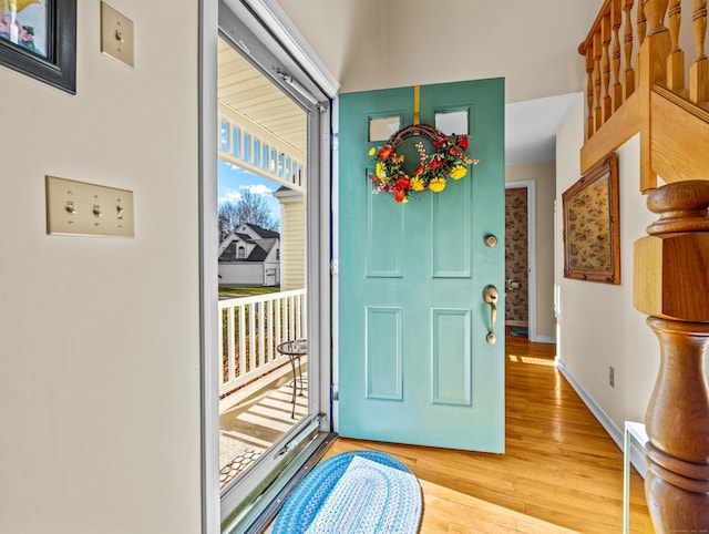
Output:
<path fill-rule="evenodd" d="M 467 133 L 479 164 L 407 204 L 372 193 L 368 153 L 386 143 L 370 125 L 413 123 L 414 88 L 339 105 L 339 433 L 504 452 L 504 81 L 420 88 L 420 123 Z"/>

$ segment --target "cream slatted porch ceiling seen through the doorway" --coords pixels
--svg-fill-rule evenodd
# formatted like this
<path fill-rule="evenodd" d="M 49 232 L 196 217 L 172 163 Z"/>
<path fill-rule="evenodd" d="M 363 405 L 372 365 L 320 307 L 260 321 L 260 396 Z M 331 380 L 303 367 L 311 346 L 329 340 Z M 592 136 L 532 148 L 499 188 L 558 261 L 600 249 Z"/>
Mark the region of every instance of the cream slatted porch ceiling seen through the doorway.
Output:
<path fill-rule="evenodd" d="M 223 39 L 218 48 L 217 100 L 278 136 L 296 152 L 306 153 L 304 111 Z"/>

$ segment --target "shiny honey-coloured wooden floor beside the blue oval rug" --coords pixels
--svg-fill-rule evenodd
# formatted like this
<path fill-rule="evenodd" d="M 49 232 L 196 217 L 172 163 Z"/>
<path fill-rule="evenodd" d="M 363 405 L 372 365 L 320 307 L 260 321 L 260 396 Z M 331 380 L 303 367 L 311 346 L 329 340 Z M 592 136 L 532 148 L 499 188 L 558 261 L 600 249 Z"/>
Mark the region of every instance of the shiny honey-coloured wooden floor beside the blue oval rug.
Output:
<path fill-rule="evenodd" d="M 338 439 L 328 456 L 374 449 L 423 490 L 421 533 L 620 533 L 623 453 L 554 367 L 553 345 L 507 336 L 503 455 Z M 630 532 L 651 533 L 633 470 Z"/>

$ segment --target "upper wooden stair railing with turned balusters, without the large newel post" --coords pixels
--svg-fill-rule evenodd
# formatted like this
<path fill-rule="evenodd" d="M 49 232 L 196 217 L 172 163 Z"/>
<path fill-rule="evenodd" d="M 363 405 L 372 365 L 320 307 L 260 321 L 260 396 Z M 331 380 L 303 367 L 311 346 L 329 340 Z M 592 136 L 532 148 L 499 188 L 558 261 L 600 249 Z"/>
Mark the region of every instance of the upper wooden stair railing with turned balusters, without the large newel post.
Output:
<path fill-rule="evenodd" d="M 690 13 L 689 64 L 680 47 L 689 30 L 682 12 Z M 706 0 L 604 2 L 578 48 L 587 73 L 583 173 L 639 132 L 643 192 L 657 186 L 658 174 L 667 183 L 709 178 L 706 34 Z"/>

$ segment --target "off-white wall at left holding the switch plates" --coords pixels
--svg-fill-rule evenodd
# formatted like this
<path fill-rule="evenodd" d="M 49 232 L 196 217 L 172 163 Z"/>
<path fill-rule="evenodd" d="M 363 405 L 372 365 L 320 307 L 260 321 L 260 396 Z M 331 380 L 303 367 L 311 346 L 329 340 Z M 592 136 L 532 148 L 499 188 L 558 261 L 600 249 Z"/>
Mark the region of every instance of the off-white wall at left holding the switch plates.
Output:
<path fill-rule="evenodd" d="M 78 2 L 78 94 L 0 66 L 0 532 L 201 531 L 196 0 Z M 135 192 L 135 238 L 48 236 L 44 175 Z"/>

